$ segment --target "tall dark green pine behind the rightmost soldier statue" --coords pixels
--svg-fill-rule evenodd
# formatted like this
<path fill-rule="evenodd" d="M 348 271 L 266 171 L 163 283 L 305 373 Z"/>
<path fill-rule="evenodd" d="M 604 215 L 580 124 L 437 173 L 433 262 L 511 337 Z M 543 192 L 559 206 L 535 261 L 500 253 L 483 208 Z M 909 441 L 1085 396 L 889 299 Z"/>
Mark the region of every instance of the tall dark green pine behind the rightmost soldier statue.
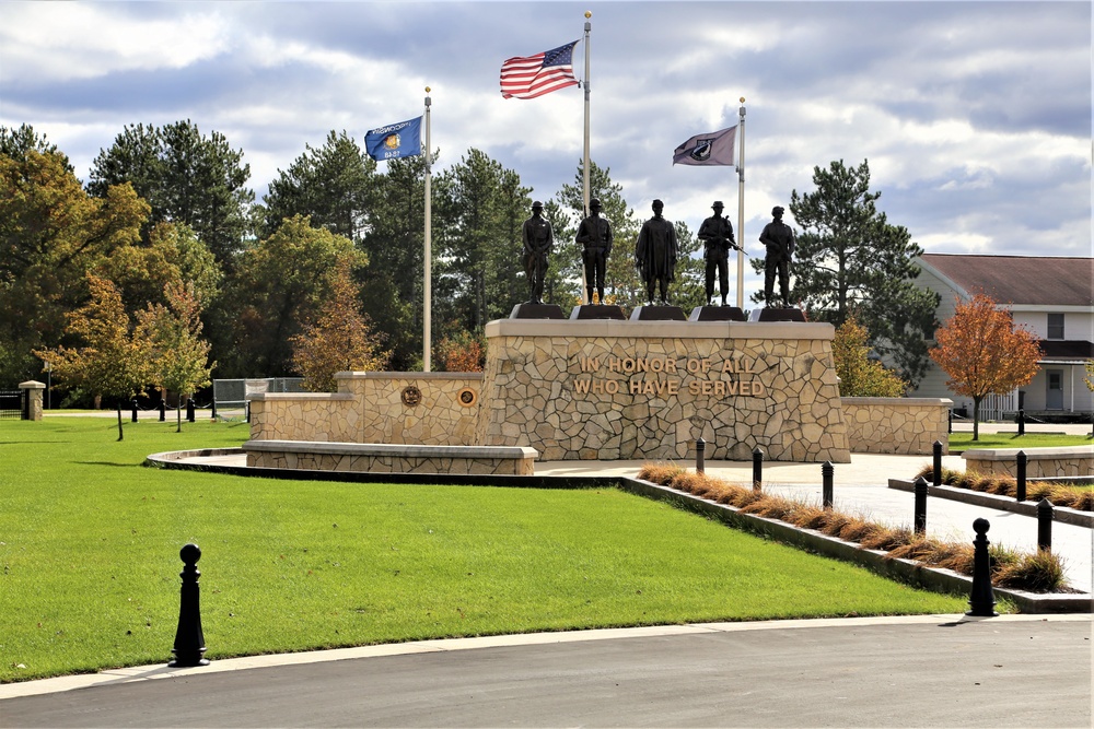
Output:
<path fill-rule="evenodd" d="M 927 338 L 939 297 L 915 285 L 913 259 L 923 250 L 908 230 L 892 225 L 870 191 L 870 166 L 813 168 L 816 190 L 790 195 L 790 212 L 803 230 L 796 236 L 791 299 L 817 320 L 837 327 L 854 308 L 870 344 L 915 386 L 927 372 Z M 754 258 L 753 269 L 764 270 Z M 754 302 L 763 295 L 753 295 Z"/>

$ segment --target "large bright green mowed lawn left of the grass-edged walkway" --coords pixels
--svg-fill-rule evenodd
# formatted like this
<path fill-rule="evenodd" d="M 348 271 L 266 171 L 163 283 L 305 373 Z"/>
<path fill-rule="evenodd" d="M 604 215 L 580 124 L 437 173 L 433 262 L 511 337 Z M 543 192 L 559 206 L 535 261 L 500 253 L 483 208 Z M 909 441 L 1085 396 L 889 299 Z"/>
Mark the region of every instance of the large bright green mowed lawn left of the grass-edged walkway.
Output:
<path fill-rule="evenodd" d="M 722 620 L 954 613 L 963 597 L 615 489 L 281 481 L 143 468 L 245 423 L 0 421 L 0 681 L 171 658 L 200 545 L 207 656 Z"/>

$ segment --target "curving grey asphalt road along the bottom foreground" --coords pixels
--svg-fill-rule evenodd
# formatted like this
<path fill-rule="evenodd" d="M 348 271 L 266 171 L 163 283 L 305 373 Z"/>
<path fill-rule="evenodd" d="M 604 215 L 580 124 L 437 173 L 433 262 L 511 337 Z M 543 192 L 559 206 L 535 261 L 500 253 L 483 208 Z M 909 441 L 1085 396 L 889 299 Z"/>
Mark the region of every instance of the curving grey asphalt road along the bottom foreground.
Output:
<path fill-rule="evenodd" d="M 1091 625 L 1075 615 L 731 623 L 420 643 L 248 670 L 216 661 L 7 698 L 0 725 L 1090 727 Z"/>

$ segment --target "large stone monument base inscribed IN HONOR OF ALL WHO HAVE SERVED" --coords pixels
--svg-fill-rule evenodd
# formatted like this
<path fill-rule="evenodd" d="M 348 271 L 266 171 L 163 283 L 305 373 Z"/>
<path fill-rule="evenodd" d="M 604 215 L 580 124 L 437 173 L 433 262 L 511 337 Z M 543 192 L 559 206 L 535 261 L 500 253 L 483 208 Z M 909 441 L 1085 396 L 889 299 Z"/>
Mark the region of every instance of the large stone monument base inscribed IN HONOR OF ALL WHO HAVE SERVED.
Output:
<path fill-rule="evenodd" d="M 605 307 L 581 307 L 582 309 Z M 475 442 L 540 460 L 850 461 L 828 324 L 515 320 L 486 327 Z"/>

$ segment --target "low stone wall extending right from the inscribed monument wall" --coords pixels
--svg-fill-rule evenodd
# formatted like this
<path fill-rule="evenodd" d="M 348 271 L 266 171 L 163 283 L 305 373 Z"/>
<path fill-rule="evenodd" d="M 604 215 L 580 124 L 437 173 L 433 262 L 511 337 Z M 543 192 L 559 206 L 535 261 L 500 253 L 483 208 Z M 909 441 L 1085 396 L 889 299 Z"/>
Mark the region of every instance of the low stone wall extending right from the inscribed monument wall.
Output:
<path fill-rule="evenodd" d="M 950 452 L 953 401 L 934 398 L 842 398 L 847 440 L 857 454 L 930 456 Z"/>

